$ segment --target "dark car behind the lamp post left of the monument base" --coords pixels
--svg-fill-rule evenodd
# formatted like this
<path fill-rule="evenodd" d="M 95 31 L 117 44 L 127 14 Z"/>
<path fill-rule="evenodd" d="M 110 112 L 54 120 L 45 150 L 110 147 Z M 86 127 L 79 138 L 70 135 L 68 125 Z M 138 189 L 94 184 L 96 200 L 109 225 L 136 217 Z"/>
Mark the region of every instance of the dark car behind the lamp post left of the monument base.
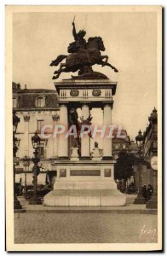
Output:
<path fill-rule="evenodd" d="M 43 197 L 44 195 L 48 194 L 52 189 L 53 188 L 52 188 L 51 185 L 46 185 L 46 186 L 38 185 L 37 186 L 37 197 Z M 33 196 L 33 191 L 34 191 L 33 185 L 29 185 L 26 188 L 25 198 L 26 199 L 31 199 L 32 196 Z"/>

